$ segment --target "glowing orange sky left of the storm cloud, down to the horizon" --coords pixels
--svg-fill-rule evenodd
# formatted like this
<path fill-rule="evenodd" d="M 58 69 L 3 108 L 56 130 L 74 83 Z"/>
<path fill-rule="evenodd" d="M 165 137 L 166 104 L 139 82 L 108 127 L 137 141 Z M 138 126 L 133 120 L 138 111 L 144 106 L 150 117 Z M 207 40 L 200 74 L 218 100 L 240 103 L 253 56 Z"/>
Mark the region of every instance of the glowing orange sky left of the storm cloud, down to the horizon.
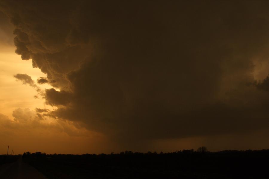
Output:
<path fill-rule="evenodd" d="M 15 47 L 6 46 L 0 52 L 0 154 L 6 153 L 7 145 L 14 149 L 15 153 L 30 150 L 44 151 L 48 153 L 87 153 L 94 152 L 95 146 L 91 142 L 97 140 L 85 129 L 77 129 L 72 124 L 59 124 L 54 119 L 47 118 L 46 121 L 37 125 L 33 121 L 24 121 L 19 125 L 14 122 L 13 111 L 21 109 L 22 117 L 34 118 L 35 108 L 52 107 L 44 104 L 44 99 L 34 98 L 36 91 L 29 85 L 23 85 L 13 77 L 16 73 L 27 73 L 34 81 L 38 77 L 45 77 L 39 69 L 33 68 L 31 61 L 22 61 L 20 55 L 14 53 Z M 39 85 L 42 89 L 51 88 L 47 84 Z M 20 116 L 18 116 L 20 118 Z M 3 121 L 10 120 L 11 124 Z M 13 124 L 15 123 L 15 124 Z M 22 121 L 19 121 L 22 123 Z M 48 126 L 46 126 L 48 125 Z M 76 146 L 76 147 L 73 147 Z M 100 150 L 102 151 L 102 150 Z"/>

